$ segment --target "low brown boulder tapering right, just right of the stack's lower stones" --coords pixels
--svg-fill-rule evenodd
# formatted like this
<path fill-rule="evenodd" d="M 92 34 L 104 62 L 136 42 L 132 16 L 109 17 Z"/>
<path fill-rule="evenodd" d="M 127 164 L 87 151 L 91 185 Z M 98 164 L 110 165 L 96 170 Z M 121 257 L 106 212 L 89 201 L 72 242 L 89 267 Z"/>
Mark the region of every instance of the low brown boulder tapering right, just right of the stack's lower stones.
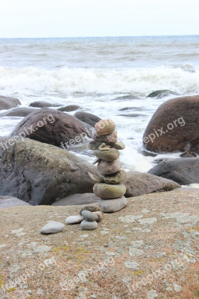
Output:
<path fill-rule="evenodd" d="M 124 182 L 124 185 L 126 186 L 125 197 L 172 191 L 181 187 L 181 185 L 173 180 L 138 171 L 126 172 L 126 181 Z"/>

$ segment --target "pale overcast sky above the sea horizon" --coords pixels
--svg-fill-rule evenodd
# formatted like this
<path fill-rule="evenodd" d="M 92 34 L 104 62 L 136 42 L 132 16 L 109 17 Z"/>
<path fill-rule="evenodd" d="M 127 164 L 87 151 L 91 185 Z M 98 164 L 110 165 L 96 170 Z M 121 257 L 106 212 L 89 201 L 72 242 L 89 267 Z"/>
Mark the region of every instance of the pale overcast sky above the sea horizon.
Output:
<path fill-rule="evenodd" d="M 199 0 L 0 0 L 0 37 L 199 34 Z"/>

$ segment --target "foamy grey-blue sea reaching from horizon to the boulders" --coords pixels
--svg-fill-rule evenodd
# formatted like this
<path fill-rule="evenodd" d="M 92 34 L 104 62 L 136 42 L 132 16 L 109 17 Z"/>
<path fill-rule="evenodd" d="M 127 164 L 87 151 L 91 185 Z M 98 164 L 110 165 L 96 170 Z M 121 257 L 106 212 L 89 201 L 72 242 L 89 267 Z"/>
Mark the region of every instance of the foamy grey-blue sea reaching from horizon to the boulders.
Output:
<path fill-rule="evenodd" d="M 178 95 L 147 97 L 165 89 Z M 17 97 L 24 107 L 34 101 L 76 104 L 78 111 L 112 119 L 126 145 L 120 152 L 126 170 L 147 172 L 158 159 L 180 157 L 146 151 L 142 137 L 162 103 L 195 94 L 199 35 L 0 39 L 0 95 Z M 21 119 L 0 118 L 0 135 L 8 135 Z M 94 158 L 88 142 L 69 150 Z"/>

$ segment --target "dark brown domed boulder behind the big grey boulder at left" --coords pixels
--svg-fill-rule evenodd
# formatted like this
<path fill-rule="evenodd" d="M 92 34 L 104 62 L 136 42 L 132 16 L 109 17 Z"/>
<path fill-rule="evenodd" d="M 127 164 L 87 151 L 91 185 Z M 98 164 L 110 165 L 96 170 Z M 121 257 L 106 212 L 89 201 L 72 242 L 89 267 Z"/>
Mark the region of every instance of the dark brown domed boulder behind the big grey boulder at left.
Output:
<path fill-rule="evenodd" d="M 26 116 L 12 131 L 11 137 L 23 137 L 42 143 L 67 147 L 84 141 L 90 126 L 76 117 L 50 108 L 41 108 Z M 92 132 L 92 131 L 91 131 Z"/>

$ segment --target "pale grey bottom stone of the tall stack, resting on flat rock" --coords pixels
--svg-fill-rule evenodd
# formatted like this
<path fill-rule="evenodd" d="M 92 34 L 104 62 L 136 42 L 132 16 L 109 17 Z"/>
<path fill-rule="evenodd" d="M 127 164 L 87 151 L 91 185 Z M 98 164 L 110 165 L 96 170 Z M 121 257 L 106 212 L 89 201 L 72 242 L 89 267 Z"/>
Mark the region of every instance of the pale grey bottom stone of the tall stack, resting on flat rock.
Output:
<path fill-rule="evenodd" d="M 104 213 L 115 213 L 123 209 L 128 201 L 124 196 L 115 199 L 99 199 L 99 205 Z"/>

